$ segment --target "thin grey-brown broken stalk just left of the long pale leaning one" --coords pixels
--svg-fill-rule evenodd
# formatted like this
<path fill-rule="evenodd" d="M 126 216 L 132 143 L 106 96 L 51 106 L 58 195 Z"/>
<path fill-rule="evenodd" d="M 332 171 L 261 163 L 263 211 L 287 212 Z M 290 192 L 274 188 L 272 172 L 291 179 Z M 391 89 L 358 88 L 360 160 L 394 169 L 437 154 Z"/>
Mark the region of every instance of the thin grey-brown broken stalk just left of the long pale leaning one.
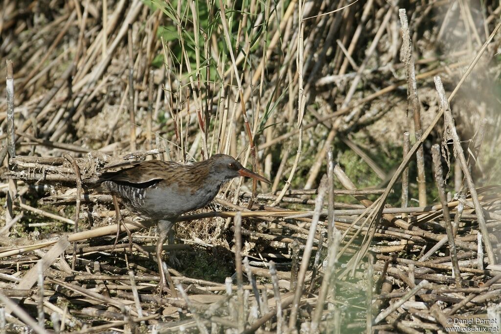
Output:
<path fill-rule="evenodd" d="M 444 179 L 442 174 L 442 162 L 440 160 L 440 146 L 434 144 L 431 147 L 431 155 L 433 158 L 433 165 L 435 166 L 435 182 L 438 189 L 438 197 L 442 203 L 443 220 L 445 223 L 445 230 L 447 231 L 447 238 L 449 241 L 450 259 L 452 261 L 452 272 L 456 279 L 456 287 L 461 286 L 461 273 L 459 271 L 459 264 L 457 262 L 456 245 L 454 243 L 454 233 L 452 232 L 452 223 L 449 214 L 449 207 L 447 206 L 447 196 L 445 195 Z"/>

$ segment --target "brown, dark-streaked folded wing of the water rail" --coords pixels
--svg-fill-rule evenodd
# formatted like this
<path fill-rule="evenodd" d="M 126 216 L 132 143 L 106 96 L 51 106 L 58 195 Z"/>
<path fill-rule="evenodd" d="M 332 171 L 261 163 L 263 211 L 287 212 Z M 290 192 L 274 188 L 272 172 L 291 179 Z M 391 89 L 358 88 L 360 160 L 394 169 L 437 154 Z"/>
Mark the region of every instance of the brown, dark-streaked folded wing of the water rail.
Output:
<path fill-rule="evenodd" d="M 119 165 L 110 166 L 110 168 L 115 168 Z M 175 162 L 161 160 L 133 161 L 124 163 L 123 165 L 130 165 L 130 167 L 101 174 L 101 182 L 111 180 L 140 184 L 153 180 L 163 180 L 169 174 L 174 174 L 172 173 L 172 169 L 179 166 Z"/>

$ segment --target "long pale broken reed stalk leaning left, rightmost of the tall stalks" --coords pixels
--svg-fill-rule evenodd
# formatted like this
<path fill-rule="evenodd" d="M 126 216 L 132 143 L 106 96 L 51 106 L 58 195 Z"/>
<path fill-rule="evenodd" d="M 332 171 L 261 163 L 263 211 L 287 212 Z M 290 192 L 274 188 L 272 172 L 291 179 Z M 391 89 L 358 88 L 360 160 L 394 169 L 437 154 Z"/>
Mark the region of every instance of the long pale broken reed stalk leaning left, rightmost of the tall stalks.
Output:
<path fill-rule="evenodd" d="M 450 111 L 449 102 L 445 97 L 445 90 L 443 89 L 442 81 L 440 77 L 435 77 L 435 88 L 438 93 L 438 98 L 440 100 L 440 107 L 443 110 L 443 115 L 445 118 L 445 129 L 448 130 L 448 134 L 450 135 L 453 144 L 454 144 L 454 152 L 457 159 L 461 163 L 461 169 L 463 170 L 464 178 L 466 179 L 466 183 L 468 185 L 468 189 L 471 195 L 471 199 L 473 200 L 473 205 L 475 207 L 476 215 L 478 218 L 478 226 L 480 227 L 480 231 L 482 232 L 484 238 L 485 252 L 487 253 L 487 258 L 489 259 L 490 264 L 496 264 L 496 257 L 494 255 L 494 250 L 492 248 L 492 244 L 489 239 L 489 232 L 487 226 L 485 225 L 485 218 L 483 216 L 483 209 L 478 200 L 478 195 L 476 193 L 475 184 L 473 183 L 473 179 L 471 178 L 471 174 L 468 170 L 468 164 L 464 157 L 463 148 L 461 147 L 461 141 L 459 140 L 459 136 L 456 132 L 456 127 L 454 125 L 454 119 L 452 117 L 452 113 Z M 447 136 L 448 137 L 448 136 Z"/>

